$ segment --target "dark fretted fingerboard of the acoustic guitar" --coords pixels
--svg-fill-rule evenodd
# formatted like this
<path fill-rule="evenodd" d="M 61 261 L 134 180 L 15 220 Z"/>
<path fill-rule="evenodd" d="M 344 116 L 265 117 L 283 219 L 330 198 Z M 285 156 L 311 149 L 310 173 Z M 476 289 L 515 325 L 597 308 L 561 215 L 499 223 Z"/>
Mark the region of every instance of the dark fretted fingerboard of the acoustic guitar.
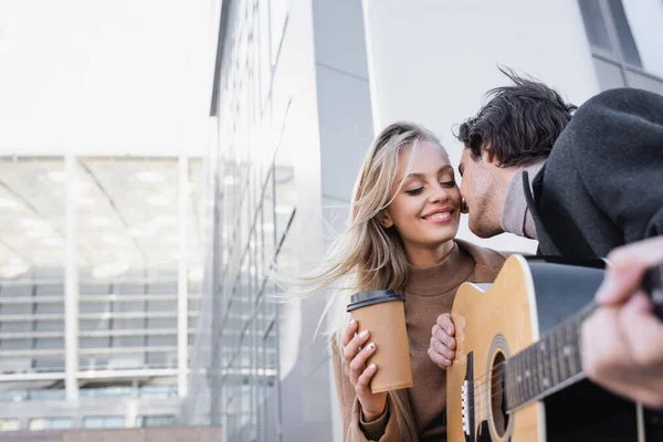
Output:
<path fill-rule="evenodd" d="M 582 378 L 580 328 L 593 309 L 588 306 L 507 359 L 503 380 L 508 411 Z"/>

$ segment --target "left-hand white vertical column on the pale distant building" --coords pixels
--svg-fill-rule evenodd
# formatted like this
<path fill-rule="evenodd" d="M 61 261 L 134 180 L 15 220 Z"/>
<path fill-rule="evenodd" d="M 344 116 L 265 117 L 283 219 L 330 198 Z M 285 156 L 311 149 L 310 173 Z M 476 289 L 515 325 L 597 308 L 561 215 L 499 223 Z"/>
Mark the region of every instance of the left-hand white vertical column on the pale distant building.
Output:
<path fill-rule="evenodd" d="M 78 176 L 76 156 L 64 156 L 65 183 L 65 267 L 64 267 L 64 388 L 67 401 L 78 400 L 78 269 L 76 262 L 76 207 Z"/>

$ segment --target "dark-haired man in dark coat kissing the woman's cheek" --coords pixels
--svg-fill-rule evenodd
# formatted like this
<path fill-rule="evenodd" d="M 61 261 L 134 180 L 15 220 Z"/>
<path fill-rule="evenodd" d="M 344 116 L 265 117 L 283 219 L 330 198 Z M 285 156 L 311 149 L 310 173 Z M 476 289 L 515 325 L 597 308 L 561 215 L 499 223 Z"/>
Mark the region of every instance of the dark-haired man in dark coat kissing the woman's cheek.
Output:
<path fill-rule="evenodd" d="M 481 238 L 511 232 L 535 239 L 540 254 L 579 261 L 663 235 L 663 96 L 619 88 L 576 108 L 541 83 L 505 74 L 514 84 L 491 91 L 456 134 L 465 146 L 459 169 L 470 229 Z M 656 257 L 644 244 L 618 255 Z M 591 348 L 583 368 L 620 394 L 663 407 L 663 326 L 635 288 L 631 281 L 629 293 L 597 298 L 601 307 L 583 327 L 583 348 Z M 648 326 L 622 327 L 619 341 L 606 340 L 614 335 L 604 330 L 606 318 L 620 324 L 617 318 L 629 314 Z M 644 358 L 623 360 L 645 347 Z M 663 423 L 661 414 L 652 420 Z"/>

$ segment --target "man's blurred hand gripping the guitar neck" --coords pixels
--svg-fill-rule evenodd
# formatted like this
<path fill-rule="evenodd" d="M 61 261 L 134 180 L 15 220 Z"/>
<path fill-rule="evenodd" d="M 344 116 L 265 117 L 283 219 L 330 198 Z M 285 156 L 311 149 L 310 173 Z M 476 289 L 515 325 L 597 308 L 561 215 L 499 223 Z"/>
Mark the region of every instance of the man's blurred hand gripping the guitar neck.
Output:
<path fill-rule="evenodd" d="M 646 270 L 663 261 L 663 236 L 618 248 L 608 261 L 599 307 L 582 326 L 582 367 L 592 381 L 663 408 L 663 322 L 639 290 Z"/>

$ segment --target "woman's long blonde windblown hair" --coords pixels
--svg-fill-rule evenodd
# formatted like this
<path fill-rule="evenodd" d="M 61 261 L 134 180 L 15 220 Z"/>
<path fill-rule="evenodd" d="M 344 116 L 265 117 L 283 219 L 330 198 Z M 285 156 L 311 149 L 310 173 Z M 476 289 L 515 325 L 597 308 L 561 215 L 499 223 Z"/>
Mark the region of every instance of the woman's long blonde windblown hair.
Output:
<path fill-rule="evenodd" d="M 335 311 L 328 332 L 336 333 L 337 339 L 348 323 L 345 308 L 352 293 L 383 288 L 402 292 L 406 287 L 408 260 L 403 242 L 394 227 L 380 224 L 380 218 L 402 186 L 399 183 L 392 194 L 399 152 L 410 149 L 407 176 L 421 141 L 434 143 L 446 154 L 431 131 L 410 122 L 393 123 L 373 139 L 355 182 L 346 229 L 332 243 L 323 266 L 303 278 L 308 287 L 306 294 L 333 292 L 325 315 Z"/>

